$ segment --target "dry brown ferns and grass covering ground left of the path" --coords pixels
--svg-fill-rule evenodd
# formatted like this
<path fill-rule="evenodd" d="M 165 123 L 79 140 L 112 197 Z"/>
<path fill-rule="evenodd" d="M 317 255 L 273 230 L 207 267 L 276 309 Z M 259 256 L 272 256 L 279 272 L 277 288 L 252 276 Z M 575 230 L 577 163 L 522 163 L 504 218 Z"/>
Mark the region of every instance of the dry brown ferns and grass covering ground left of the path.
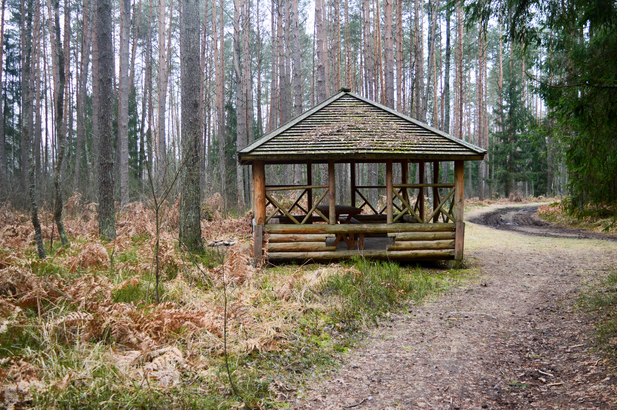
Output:
<path fill-rule="evenodd" d="M 334 329 L 351 329 L 347 319 L 354 329 L 370 326 L 379 314 L 346 303 L 354 266 L 249 266 L 251 215 L 223 219 L 216 198 L 204 204 L 204 238 L 238 245 L 183 252 L 178 203 L 165 204 L 161 301 L 154 303 L 149 204 L 118 210 L 112 242 L 97 238 L 96 204 L 78 194 L 67 204 L 69 247 L 54 240 L 49 252 L 51 214 L 41 212 L 45 260 L 36 260 L 28 215 L 0 208 L 0 407 L 272 408 L 291 383 L 315 377 L 346 350 L 353 334 L 334 341 Z M 443 285 L 418 269 L 395 268 L 401 301 Z M 361 269 L 371 277 L 371 267 Z M 412 281 L 432 285 L 412 291 Z M 350 319 L 350 308 L 362 314 Z"/>

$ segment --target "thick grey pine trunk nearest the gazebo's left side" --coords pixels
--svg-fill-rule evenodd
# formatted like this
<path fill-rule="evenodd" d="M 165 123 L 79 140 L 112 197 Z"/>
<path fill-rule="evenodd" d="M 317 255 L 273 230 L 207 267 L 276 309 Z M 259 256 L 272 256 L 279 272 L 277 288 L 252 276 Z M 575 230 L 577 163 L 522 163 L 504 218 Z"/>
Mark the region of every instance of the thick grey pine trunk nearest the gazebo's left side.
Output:
<path fill-rule="evenodd" d="M 237 0 L 236 0 L 237 1 Z M 201 250 L 199 220 L 199 141 L 201 140 L 199 100 L 199 0 L 183 0 L 182 52 L 180 61 L 182 105 L 182 158 L 184 181 L 180 196 L 180 243 L 189 252 Z"/>

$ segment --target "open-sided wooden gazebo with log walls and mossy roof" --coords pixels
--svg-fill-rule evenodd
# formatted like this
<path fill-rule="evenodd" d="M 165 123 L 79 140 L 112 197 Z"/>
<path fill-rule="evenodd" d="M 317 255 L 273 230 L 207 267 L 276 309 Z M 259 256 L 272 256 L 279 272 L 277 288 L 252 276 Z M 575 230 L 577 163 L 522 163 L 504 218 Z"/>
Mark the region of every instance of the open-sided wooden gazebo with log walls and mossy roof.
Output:
<path fill-rule="evenodd" d="M 485 154 L 480 147 L 341 88 L 238 151 L 239 163 L 252 166 L 254 263 L 264 258 L 335 261 L 354 255 L 399 261 L 462 260 L 463 161 L 482 160 Z M 442 161 L 454 162 L 453 183 L 423 183 L 424 166 L 419 167 L 421 183 L 408 183 L 408 163 L 433 162 L 433 181 L 439 181 Z M 356 186 L 355 164 L 362 162 L 385 163 L 386 185 Z M 392 183 L 396 162 L 402 165 L 400 184 Z M 305 185 L 266 185 L 265 165 L 298 163 L 307 166 Z M 317 163 L 328 164 L 327 185 L 313 185 L 312 164 Z M 351 205 L 335 202 L 336 163 L 350 163 Z M 386 190 L 381 210 L 360 191 L 376 188 Z M 427 212 L 426 189 L 433 191 L 434 203 Z M 273 194 L 292 190 L 302 194 L 289 208 Z M 321 192 L 316 200 L 313 191 Z M 308 209 L 300 205 L 304 195 Z M 356 207 L 358 197 L 362 203 Z M 326 198 L 328 205 L 320 205 Z M 274 210 L 270 215 L 268 205 Z M 373 213 L 362 213 L 362 208 Z"/>

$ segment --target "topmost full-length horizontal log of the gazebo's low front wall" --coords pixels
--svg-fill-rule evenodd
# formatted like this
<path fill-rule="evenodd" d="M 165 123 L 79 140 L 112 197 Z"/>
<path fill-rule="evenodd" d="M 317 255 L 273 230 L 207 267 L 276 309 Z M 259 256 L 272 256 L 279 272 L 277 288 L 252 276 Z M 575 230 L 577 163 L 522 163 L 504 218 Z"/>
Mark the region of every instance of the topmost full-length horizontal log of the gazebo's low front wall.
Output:
<path fill-rule="evenodd" d="M 387 232 L 451 232 L 456 228 L 453 223 L 437 224 L 268 224 L 268 234 L 383 234 Z"/>

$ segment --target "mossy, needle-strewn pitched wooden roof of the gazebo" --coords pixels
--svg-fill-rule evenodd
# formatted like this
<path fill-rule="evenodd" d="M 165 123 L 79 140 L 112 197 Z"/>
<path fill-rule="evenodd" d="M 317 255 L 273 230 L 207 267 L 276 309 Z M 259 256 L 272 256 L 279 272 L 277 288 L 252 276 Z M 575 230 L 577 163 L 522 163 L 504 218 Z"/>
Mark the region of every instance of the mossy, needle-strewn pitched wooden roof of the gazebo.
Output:
<path fill-rule="evenodd" d="M 238 151 L 238 160 L 481 160 L 486 150 L 339 91 Z"/>

